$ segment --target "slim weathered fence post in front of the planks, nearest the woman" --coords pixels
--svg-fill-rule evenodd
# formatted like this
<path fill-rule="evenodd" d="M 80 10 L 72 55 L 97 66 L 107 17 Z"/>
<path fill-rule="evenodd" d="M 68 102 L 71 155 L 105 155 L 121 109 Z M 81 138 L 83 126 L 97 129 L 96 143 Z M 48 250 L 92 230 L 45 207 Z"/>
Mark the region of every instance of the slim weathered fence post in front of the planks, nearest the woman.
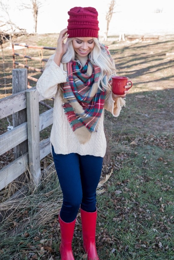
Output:
<path fill-rule="evenodd" d="M 41 177 L 38 91 L 26 92 L 29 171 L 34 185 Z"/>

